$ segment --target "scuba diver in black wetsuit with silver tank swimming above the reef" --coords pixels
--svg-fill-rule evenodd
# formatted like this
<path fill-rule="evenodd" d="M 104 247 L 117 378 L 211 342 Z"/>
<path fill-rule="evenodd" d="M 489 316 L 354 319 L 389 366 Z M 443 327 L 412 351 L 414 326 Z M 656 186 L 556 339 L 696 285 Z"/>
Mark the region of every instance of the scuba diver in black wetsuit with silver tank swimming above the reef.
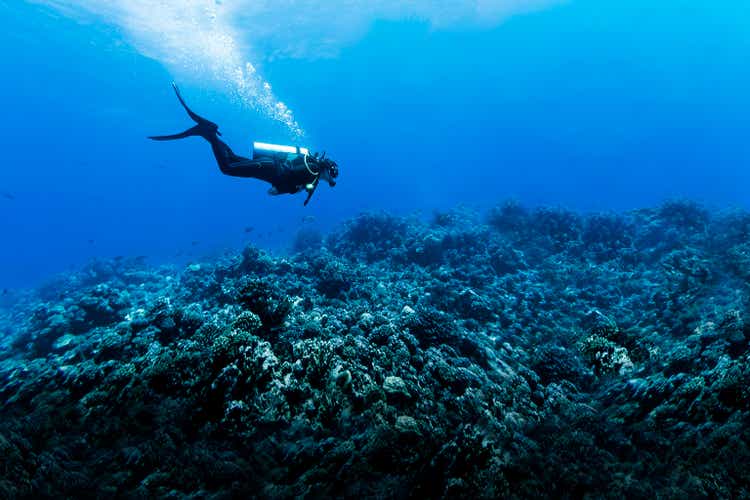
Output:
<path fill-rule="evenodd" d="M 233 177 L 250 177 L 271 184 L 269 194 L 295 194 L 303 189 L 307 191 L 305 205 L 310 201 L 321 179 L 333 187 L 339 168 L 335 161 L 325 157 L 325 153 L 310 154 L 308 149 L 297 146 L 279 146 L 262 142 L 253 143 L 253 157 L 244 158 L 234 154 L 224 141 L 219 126 L 195 114 L 180 95 L 180 89 L 172 83 L 177 99 L 187 111 L 188 116 L 197 124 L 192 128 L 174 135 L 156 135 L 149 139 L 155 141 L 173 141 L 185 137 L 199 136 L 211 144 L 216 163 L 225 175 Z"/>

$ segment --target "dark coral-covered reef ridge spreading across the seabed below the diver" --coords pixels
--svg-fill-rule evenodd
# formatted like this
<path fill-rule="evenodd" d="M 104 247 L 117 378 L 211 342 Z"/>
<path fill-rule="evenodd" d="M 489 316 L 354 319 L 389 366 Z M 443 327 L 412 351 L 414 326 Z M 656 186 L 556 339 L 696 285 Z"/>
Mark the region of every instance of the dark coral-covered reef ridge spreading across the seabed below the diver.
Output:
<path fill-rule="evenodd" d="M 750 214 L 363 214 L 0 313 L 0 497 L 750 496 Z"/>

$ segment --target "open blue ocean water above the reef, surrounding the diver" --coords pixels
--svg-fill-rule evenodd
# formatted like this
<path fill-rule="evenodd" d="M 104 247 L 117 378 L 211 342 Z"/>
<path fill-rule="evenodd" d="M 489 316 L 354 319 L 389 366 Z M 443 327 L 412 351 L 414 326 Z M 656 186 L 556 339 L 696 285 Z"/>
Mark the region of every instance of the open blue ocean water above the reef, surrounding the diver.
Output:
<path fill-rule="evenodd" d="M 0 287 L 96 256 L 283 249 L 308 216 L 749 205 L 746 2 L 180 4 L 0 1 Z M 326 150 L 338 185 L 303 207 L 221 175 L 201 139 L 148 141 L 189 125 L 173 80 L 237 153 Z"/>

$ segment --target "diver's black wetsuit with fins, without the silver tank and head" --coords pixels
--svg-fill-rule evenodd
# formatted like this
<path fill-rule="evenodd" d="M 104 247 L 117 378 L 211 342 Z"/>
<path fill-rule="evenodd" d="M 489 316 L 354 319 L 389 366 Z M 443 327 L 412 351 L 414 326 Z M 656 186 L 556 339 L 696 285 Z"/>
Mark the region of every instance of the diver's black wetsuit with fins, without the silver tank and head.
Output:
<path fill-rule="evenodd" d="M 173 86 L 180 104 L 197 125 L 180 134 L 151 136 L 150 139 L 171 141 L 185 137 L 203 137 L 211 144 L 211 150 L 222 173 L 233 177 L 266 181 L 273 186 L 271 191 L 273 194 L 294 194 L 306 189 L 305 205 L 307 205 L 320 181 L 320 169 L 315 157 L 298 154 L 291 156 L 291 159 L 280 159 L 260 154 L 251 159 L 236 155 L 224 141 L 219 139 L 218 136 L 221 135 L 219 126 L 191 111 L 182 99 L 177 86 L 174 84 Z"/>

